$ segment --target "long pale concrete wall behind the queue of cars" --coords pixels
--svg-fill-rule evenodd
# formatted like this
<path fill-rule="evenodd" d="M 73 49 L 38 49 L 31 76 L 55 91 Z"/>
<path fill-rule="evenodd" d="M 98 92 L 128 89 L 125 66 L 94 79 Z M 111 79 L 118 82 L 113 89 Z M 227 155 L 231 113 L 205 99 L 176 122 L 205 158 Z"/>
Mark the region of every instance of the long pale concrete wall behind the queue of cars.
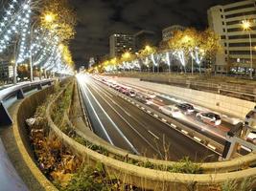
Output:
<path fill-rule="evenodd" d="M 221 112 L 222 114 L 232 115 L 242 119 L 244 119 L 246 114 L 256 105 L 255 102 L 235 97 L 221 96 L 187 88 L 140 81 L 138 78 L 117 78 L 117 80 L 170 96 L 176 96 L 185 101 Z"/>

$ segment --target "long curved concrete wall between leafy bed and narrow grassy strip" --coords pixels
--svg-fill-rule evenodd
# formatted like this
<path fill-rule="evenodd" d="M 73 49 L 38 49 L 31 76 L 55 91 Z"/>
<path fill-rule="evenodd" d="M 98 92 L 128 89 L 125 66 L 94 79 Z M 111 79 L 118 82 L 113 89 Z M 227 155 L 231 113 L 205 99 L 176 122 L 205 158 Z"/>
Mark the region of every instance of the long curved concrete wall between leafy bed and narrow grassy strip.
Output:
<path fill-rule="evenodd" d="M 60 96 L 61 93 L 58 95 Z M 256 179 L 255 168 L 248 168 L 242 171 L 231 173 L 212 173 L 212 174 L 180 174 L 170 173 L 148 168 L 139 167 L 136 165 L 128 164 L 116 159 L 107 158 L 95 151 L 76 142 L 72 138 L 63 134 L 58 127 L 54 124 L 50 117 L 51 108 L 53 103 L 58 99 L 58 96 L 47 107 L 46 117 L 49 123 L 50 130 L 61 139 L 62 143 L 68 147 L 75 154 L 80 156 L 88 165 L 96 165 L 98 162 L 105 164 L 105 169 L 109 174 L 116 175 L 116 177 L 126 183 L 136 185 L 145 189 L 153 190 L 187 190 L 188 187 L 197 188 L 198 190 L 210 190 L 225 182 L 228 178 L 235 179 L 238 183 L 244 178 Z M 225 161 L 232 162 L 232 161 Z M 224 162 L 224 163 L 225 163 Z M 221 167 L 222 162 L 216 163 L 215 168 Z M 224 164 L 222 163 L 222 164 Z"/>

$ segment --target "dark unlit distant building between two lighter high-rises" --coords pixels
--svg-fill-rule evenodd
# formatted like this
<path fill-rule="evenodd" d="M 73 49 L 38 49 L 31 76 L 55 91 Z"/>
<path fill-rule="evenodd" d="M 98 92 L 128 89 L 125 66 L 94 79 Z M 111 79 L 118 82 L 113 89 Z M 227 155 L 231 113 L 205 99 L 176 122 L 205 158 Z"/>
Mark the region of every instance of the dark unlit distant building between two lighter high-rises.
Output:
<path fill-rule="evenodd" d="M 140 31 L 134 34 L 135 52 L 142 50 L 145 46 L 156 46 L 158 43 L 157 35 L 151 31 Z"/>

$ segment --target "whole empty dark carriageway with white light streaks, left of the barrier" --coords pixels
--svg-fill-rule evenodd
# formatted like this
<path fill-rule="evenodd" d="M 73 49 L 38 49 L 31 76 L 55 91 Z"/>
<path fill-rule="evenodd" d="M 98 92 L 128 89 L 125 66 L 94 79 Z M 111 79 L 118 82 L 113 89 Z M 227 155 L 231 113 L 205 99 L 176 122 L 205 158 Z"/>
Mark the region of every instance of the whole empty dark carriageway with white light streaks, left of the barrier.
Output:
<path fill-rule="evenodd" d="M 213 161 L 219 156 L 117 96 L 105 84 L 80 75 L 78 81 L 94 132 L 111 144 L 155 159 Z"/>

